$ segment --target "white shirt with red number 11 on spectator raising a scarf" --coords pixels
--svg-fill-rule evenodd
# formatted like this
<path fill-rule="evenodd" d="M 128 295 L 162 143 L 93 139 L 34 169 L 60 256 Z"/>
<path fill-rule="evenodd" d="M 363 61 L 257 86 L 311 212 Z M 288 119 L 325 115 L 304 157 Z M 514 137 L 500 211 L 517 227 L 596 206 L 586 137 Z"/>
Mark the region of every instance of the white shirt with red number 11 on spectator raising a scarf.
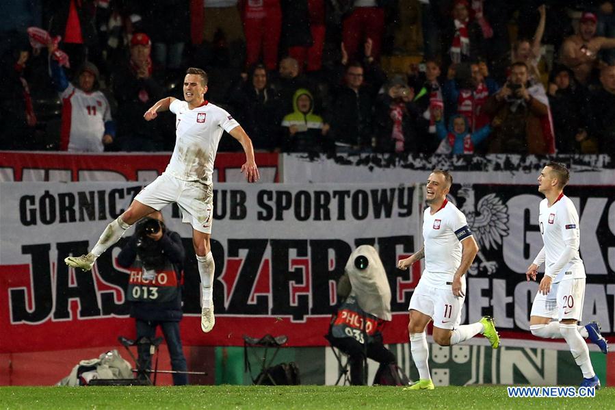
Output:
<path fill-rule="evenodd" d="M 100 91 L 85 92 L 68 84 L 62 98 L 61 149 L 103 152 L 105 123 L 112 120 L 109 101 Z"/>

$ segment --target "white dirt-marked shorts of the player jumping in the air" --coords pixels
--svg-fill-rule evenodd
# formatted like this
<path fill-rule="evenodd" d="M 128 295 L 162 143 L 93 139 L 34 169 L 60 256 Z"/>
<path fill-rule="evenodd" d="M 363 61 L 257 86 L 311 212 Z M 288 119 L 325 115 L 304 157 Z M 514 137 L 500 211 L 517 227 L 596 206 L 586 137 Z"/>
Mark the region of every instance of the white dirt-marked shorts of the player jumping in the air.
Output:
<path fill-rule="evenodd" d="M 157 211 L 169 203 L 177 203 L 181 221 L 194 229 L 211 233 L 213 224 L 213 186 L 182 179 L 163 172 L 135 196 L 135 200 Z"/>

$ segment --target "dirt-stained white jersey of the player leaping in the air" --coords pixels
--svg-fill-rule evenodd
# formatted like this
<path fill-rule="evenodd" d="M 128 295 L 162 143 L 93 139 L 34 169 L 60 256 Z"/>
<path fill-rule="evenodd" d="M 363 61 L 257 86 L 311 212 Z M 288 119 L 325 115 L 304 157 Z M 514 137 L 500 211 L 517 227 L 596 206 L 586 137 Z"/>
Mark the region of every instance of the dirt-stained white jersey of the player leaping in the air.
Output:
<path fill-rule="evenodd" d="M 169 109 L 175 120 L 175 149 L 165 172 L 184 181 L 211 184 L 213 161 L 222 131 L 230 132 L 239 123 L 222 108 L 205 101 L 190 110 L 186 101 L 175 100 Z"/>

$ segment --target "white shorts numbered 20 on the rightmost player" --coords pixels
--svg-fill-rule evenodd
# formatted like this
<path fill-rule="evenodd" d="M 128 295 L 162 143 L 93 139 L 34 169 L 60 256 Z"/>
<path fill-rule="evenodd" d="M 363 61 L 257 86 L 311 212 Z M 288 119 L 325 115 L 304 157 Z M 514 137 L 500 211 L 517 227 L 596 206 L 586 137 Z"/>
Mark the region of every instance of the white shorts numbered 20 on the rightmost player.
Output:
<path fill-rule="evenodd" d="M 549 294 L 536 294 L 529 316 L 542 318 L 576 319 L 583 318 L 583 302 L 585 299 L 585 279 L 568 279 L 551 284 Z"/>

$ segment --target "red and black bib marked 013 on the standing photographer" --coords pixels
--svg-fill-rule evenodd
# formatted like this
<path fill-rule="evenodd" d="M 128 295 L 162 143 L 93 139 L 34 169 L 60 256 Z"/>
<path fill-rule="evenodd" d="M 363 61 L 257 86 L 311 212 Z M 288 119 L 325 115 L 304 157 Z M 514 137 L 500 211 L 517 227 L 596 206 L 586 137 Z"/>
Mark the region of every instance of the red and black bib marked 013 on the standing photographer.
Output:
<path fill-rule="evenodd" d="M 136 259 L 129 269 L 128 300 L 131 302 L 170 302 L 179 295 L 177 275 L 170 262 L 163 269 L 146 270 Z"/>

